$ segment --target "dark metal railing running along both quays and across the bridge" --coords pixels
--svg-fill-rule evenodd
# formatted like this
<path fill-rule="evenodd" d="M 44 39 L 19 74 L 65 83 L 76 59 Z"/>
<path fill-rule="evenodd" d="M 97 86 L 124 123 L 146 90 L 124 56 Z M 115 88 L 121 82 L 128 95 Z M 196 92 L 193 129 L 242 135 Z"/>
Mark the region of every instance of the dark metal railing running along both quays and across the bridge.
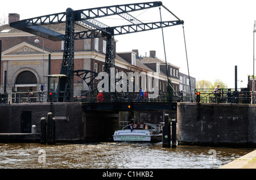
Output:
<path fill-rule="evenodd" d="M 230 90 L 230 91 L 229 91 Z M 98 97 L 98 93 L 91 93 L 90 91 L 82 91 L 80 97 L 74 97 L 74 102 L 196 102 L 196 92 L 200 92 L 200 103 L 251 103 L 251 91 L 245 89 L 220 89 L 220 93 L 214 93 L 214 89 L 196 89 L 195 91 L 179 91 L 172 93 L 171 97 L 168 92 L 159 92 L 155 94 L 154 98 L 141 97 L 139 98 L 138 92 L 133 93 L 102 93 L 102 97 Z M 154 94 L 149 93 L 149 94 Z M 254 93 L 254 102 L 256 96 Z M 58 94 L 52 93 L 52 101 L 58 101 Z M 0 94 L 0 103 L 36 103 L 48 102 L 47 91 L 34 91 L 34 92 L 14 92 Z"/>

